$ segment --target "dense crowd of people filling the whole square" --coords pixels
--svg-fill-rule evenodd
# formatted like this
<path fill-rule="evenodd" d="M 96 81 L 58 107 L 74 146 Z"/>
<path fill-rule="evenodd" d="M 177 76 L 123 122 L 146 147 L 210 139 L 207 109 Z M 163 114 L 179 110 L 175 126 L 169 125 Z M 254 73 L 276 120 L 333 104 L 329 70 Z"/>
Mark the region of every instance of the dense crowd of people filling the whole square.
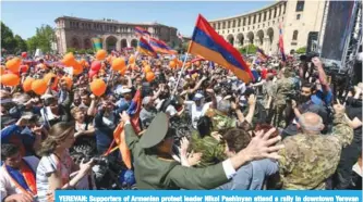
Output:
<path fill-rule="evenodd" d="M 336 99 L 318 58 L 245 58 L 244 83 L 194 58 L 181 68 L 138 55 L 114 72 L 130 55 L 110 54 L 93 75 L 89 55 L 75 54 L 76 75 L 62 55 L 28 58 L 20 84 L 1 85 L 1 201 L 53 201 L 59 189 L 362 189 L 363 84 Z M 44 94 L 24 90 L 49 74 Z"/>

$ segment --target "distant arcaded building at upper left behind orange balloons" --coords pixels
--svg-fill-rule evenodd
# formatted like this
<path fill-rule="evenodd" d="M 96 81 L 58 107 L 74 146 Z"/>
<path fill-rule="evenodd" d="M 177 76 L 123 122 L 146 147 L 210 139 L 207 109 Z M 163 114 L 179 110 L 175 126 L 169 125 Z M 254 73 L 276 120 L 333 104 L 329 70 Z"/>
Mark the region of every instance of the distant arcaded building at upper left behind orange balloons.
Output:
<path fill-rule="evenodd" d="M 87 20 L 71 16 L 61 16 L 56 20 L 56 40 L 59 53 L 66 49 L 93 49 L 92 38 L 98 37 L 102 41 L 102 49 L 120 51 L 122 48 L 137 47 L 137 37 L 134 27 L 140 26 L 152 34 L 152 37 L 161 39 L 171 45 L 180 42 L 177 28 L 150 24 L 121 23 L 113 20 Z"/>

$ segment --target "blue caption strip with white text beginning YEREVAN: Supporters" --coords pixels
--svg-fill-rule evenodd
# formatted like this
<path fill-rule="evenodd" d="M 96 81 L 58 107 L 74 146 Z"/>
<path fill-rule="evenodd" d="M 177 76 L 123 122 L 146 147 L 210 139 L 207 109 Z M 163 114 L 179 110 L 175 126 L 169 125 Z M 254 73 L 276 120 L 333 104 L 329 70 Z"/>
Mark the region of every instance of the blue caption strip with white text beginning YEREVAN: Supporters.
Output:
<path fill-rule="evenodd" d="M 56 191 L 56 202 L 361 202 L 361 191 Z"/>

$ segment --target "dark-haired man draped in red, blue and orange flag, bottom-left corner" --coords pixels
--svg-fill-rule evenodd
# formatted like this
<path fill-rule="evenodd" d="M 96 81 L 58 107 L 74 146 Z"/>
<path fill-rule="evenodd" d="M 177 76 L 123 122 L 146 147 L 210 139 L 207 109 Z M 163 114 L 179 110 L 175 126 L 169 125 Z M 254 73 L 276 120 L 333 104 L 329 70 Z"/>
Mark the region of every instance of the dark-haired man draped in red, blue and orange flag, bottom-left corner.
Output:
<path fill-rule="evenodd" d="M 36 156 L 22 157 L 14 144 L 1 144 L 0 193 L 3 202 L 36 200 Z"/>

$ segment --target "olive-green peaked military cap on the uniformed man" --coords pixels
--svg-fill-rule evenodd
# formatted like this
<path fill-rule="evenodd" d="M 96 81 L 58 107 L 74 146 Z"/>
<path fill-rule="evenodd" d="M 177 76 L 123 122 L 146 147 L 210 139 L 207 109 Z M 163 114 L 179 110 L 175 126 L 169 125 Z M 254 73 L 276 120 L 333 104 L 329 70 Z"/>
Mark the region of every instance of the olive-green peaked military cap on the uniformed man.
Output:
<path fill-rule="evenodd" d="M 140 146 L 144 149 L 153 148 L 164 140 L 168 132 L 169 119 L 167 114 L 159 113 L 155 116 L 147 130 L 140 139 Z"/>

